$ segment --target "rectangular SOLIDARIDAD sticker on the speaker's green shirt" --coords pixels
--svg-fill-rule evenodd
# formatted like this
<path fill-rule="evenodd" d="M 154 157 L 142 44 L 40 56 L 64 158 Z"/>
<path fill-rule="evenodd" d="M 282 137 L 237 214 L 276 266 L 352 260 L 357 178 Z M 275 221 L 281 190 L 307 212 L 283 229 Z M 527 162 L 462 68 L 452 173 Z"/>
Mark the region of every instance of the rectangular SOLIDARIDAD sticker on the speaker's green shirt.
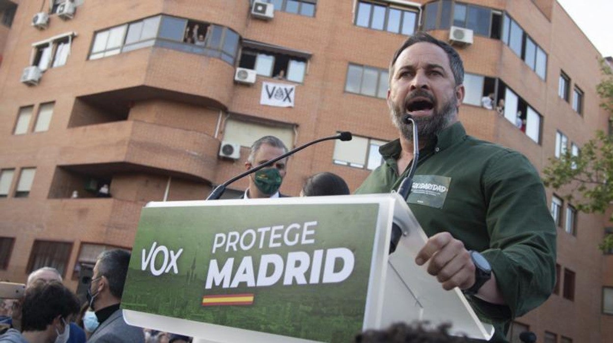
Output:
<path fill-rule="evenodd" d="M 439 175 L 415 175 L 413 188 L 406 202 L 420 204 L 437 209 L 443 208 L 451 177 Z"/>

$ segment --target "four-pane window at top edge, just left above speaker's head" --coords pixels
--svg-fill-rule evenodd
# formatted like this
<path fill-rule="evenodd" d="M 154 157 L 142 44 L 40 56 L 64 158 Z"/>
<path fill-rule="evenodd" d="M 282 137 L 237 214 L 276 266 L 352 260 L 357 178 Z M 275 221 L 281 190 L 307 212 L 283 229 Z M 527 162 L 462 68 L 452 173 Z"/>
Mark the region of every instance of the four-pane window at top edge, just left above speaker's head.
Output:
<path fill-rule="evenodd" d="M 356 26 L 410 36 L 415 33 L 417 27 L 417 9 L 359 1 L 356 9 Z"/>

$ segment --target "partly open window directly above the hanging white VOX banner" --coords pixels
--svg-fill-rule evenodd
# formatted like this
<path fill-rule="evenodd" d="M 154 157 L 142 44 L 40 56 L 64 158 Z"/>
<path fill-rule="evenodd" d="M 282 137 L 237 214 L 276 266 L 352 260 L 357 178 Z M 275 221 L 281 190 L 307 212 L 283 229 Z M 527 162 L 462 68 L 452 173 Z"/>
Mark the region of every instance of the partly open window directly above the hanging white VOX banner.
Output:
<path fill-rule="evenodd" d="M 253 69 L 257 75 L 303 83 L 309 57 L 302 52 L 245 40 L 238 66 Z"/>

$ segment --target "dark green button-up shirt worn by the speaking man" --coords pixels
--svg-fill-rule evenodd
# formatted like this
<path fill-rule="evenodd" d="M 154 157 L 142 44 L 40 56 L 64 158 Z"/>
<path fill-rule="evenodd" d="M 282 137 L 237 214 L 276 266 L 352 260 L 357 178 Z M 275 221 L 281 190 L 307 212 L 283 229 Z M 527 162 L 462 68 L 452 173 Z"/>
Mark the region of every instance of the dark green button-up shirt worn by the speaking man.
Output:
<path fill-rule="evenodd" d="M 398 175 L 400 141 L 379 148 L 385 163 L 357 194 L 389 193 Z M 443 129 L 420 150 L 407 202 L 428 236 L 447 231 L 489 261 L 507 306 L 468 299 L 504 341 L 512 318 L 542 304 L 555 284 L 556 228 L 538 172 L 524 155 L 467 136 L 461 123 Z"/>

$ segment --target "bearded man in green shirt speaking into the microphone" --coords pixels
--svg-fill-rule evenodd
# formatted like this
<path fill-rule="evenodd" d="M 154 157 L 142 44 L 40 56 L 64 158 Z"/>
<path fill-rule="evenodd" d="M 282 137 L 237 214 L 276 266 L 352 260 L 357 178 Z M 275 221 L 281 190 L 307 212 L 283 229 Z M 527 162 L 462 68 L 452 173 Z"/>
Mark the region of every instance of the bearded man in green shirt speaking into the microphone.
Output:
<path fill-rule="evenodd" d="M 484 322 L 504 335 L 542 304 L 555 283 L 555 224 L 536 169 L 518 152 L 467 136 L 458 118 L 464 68 L 450 45 L 417 33 L 389 68 L 387 103 L 400 138 L 379 148 L 385 163 L 356 193 L 397 189 L 419 160 L 407 202 L 429 239 L 415 261 L 445 290 L 459 287 Z"/>

